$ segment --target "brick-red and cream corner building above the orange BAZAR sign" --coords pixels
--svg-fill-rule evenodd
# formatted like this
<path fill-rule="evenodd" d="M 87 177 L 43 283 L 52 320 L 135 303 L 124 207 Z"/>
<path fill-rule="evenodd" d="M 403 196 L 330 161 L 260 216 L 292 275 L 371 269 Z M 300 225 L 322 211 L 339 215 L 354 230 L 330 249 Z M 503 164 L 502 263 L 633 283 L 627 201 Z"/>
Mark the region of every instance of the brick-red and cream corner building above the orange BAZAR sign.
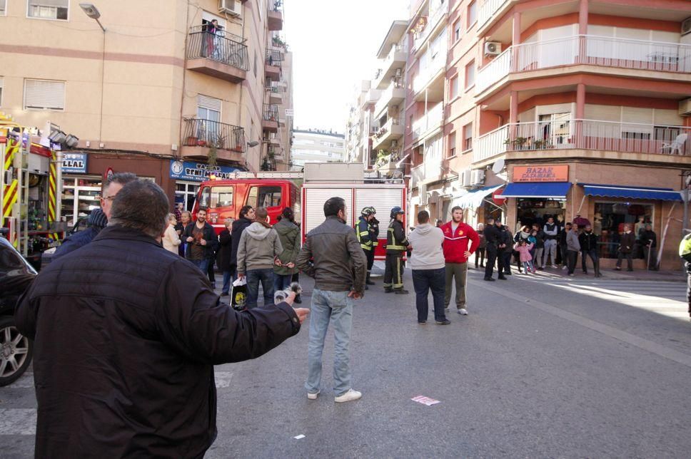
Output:
<path fill-rule="evenodd" d="M 623 225 L 647 222 L 660 267 L 677 267 L 690 17 L 682 0 L 412 1 L 402 165 L 411 213 L 448 220 L 460 205 L 471 224 L 500 217 L 512 231 L 550 216 L 587 220 L 603 267 Z"/>

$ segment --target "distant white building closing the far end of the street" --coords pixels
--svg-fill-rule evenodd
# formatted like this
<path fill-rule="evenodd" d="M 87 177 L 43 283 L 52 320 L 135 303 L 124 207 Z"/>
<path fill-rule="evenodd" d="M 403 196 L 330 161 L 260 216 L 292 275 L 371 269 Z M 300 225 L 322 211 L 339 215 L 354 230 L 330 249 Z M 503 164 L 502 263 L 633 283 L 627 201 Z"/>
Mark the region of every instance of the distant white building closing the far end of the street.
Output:
<path fill-rule="evenodd" d="M 343 163 L 346 137 L 331 130 L 293 130 L 291 169 L 302 170 L 305 163 Z"/>

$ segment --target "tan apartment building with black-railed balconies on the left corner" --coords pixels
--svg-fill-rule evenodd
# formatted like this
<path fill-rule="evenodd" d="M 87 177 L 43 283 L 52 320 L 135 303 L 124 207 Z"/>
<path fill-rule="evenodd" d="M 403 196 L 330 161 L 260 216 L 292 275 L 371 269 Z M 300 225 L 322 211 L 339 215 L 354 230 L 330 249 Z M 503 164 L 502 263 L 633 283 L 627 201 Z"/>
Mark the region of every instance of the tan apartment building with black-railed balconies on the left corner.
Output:
<path fill-rule="evenodd" d="M 271 91 L 285 83 L 281 0 L 94 6 L 98 22 L 76 1 L 0 1 L 0 110 L 59 125 L 79 138 L 66 153 L 86 160 L 64 175 L 67 220 L 88 215 L 111 170 L 150 177 L 188 208 L 210 175 L 259 170 L 284 122 Z"/>

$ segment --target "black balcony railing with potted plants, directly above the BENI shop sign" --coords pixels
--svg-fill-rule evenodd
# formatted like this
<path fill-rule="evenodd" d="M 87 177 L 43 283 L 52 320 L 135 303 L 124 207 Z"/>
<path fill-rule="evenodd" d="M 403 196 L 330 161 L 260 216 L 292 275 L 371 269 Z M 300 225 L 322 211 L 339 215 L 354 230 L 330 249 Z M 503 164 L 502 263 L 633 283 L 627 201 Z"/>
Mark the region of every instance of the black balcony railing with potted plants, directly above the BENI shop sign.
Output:
<path fill-rule="evenodd" d="M 185 118 L 184 123 L 181 143 L 186 147 L 213 147 L 237 153 L 245 151 L 245 130 L 239 126 L 198 118 Z"/>

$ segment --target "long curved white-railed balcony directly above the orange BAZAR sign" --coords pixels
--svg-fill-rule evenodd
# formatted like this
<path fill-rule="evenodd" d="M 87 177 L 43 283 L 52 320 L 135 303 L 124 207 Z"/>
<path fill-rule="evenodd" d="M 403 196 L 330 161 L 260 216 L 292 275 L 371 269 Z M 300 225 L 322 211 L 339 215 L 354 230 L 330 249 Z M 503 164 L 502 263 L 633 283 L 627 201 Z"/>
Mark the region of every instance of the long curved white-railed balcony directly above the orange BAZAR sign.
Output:
<path fill-rule="evenodd" d="M 690 135 L 691 128 L 684 126 L 600 120 L 513 123 L 478 138 L 473 145 L 473 162 L 490 160 L 508 152 L 539 150 L 538 156 L 567 158 L 573 154 L 564 150 L 592 150 L 617 153 L 602 155 L 604 159 L 691 163 Z M 547 150 L 552 153 L 548 154 Z M 627 153 L 650 156 L 637 158 Z M 680 156 L 686 158 L 682 160 Z"/>

